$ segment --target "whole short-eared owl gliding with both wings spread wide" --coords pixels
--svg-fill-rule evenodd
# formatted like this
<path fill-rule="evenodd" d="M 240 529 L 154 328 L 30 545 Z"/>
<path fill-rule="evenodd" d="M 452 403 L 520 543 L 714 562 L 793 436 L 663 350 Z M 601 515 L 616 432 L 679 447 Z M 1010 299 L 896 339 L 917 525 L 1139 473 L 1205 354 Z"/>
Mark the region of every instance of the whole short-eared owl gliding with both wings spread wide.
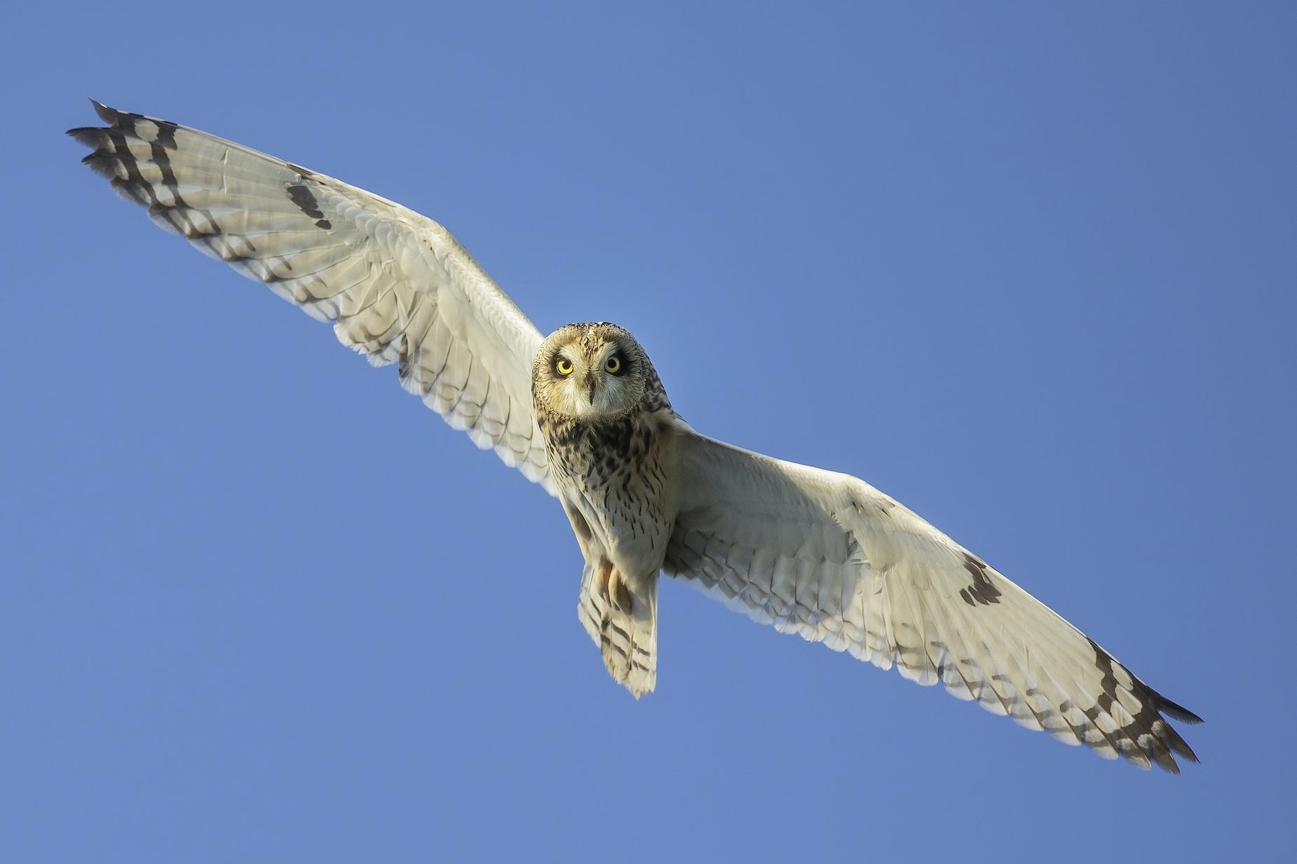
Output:
<path fill-rule="evenodd" d="M 83 161 L 201 252 L 332 322 L 374 366 L 556 497 L 577 615 L 613 680 L 658 680 L 658 576 L 783 633 L 1100 755 L 1179 773 L 1200 723 L 914 512 L 844 474 L 695 432 L 615 324 L 542 336 L 440 224 L 197 130 L 99 102 Z"/>

